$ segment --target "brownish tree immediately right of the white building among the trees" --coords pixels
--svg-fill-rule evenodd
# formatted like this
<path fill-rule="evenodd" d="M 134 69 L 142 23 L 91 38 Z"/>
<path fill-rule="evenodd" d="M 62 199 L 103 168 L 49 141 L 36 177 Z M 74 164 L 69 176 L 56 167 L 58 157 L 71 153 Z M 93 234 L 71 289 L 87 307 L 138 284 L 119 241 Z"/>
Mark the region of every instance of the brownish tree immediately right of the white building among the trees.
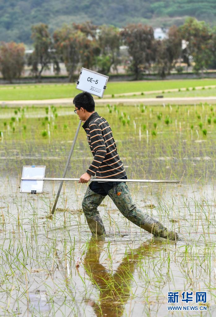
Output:
<path fill-rule="evenodd" d="M 158 74 L 164 78 L 175 67 L 176 61 L 181 56 L 181 34 L 173 25 L 168 30 L 168 37 L 157 41 L 157 53 L 155 68 Z"/>

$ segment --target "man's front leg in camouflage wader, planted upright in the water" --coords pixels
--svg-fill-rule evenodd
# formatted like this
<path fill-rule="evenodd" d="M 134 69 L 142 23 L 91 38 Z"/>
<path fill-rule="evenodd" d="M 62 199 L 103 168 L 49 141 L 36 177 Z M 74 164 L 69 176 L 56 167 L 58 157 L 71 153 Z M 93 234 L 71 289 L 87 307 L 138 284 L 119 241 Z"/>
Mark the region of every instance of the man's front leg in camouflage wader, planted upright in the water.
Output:
<path fill-rule="evenodd" d="M 102 236 L 106 234 L 104 224 L 98 212 L 98 206 L 104 200 L 105 196 L 92 191 L 89 186 L 82 201 L 82 209 L 86 216 L 86 221 L 92 234 Z"/>

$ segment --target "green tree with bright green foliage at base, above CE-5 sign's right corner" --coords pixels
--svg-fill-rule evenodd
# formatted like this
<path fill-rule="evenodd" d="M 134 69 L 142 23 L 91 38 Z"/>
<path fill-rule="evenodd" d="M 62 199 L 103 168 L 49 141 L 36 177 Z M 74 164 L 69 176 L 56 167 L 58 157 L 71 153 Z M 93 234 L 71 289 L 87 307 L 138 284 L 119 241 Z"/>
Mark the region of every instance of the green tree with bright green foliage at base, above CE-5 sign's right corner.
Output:
<path fill-rule="evenodd" d="M 98 71 L 108 74 L 111 66 L 117 71 L 121 43 L 119 29 L 114 26 L 102 25 L 99 29 L 98 42 L 101 49 L 101 55 L 97 59 Z"/>

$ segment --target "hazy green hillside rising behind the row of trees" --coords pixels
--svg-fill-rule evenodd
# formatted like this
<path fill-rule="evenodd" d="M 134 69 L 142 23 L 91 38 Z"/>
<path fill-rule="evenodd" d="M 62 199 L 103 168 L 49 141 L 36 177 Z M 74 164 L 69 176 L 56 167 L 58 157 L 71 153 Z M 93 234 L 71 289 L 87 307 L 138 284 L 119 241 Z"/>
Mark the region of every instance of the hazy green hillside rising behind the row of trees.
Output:
<path fill-rule="evenodd" d="M 50 31 L 64 23 L 145 23 L 153 27 L 181 25 L 187 16 L 216 25 L 215 0 L 0 0 L 0 41 L 31 43 L 31 25 L 48 24 Z"/>

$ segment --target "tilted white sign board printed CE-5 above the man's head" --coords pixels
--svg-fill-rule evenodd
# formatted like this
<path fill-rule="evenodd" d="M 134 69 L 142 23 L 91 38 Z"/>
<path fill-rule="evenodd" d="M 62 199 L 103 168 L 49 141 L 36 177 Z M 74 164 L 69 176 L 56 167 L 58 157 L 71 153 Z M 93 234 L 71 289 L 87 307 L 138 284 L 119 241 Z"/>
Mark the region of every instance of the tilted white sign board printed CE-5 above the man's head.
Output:
<path fill-rule="evenodd" d="M 109 76 L 82 68 L 76 88 L 102 98 L 108 79 Z"/>

